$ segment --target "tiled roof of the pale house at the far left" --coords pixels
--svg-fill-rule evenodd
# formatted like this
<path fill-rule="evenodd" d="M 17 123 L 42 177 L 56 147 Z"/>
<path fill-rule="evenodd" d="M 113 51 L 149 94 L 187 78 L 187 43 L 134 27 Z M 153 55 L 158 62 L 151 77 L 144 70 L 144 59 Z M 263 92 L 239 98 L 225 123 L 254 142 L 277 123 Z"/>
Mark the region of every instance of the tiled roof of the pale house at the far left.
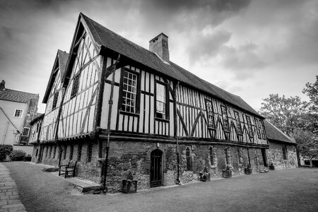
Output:
<path fill-rule="evenodd" d="M 5 88 L 0 90 L 0 100 L 7 100 L 12 102 L 28 102 L 31 99 L 38 98 L 38 95 L 35 93 L 26 93 L 19 90 L 11 90 Z"/>

